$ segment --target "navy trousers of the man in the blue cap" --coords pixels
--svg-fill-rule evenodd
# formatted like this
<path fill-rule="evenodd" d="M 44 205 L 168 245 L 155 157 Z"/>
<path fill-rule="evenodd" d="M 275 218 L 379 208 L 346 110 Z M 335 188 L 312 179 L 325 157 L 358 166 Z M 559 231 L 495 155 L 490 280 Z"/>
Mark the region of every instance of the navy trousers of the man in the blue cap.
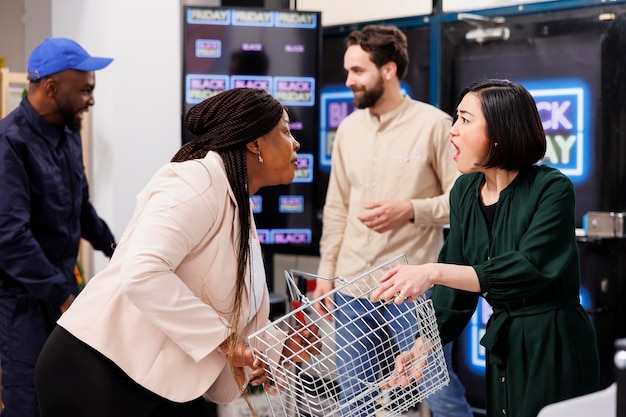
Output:
<path fill-rule="evenodd" d="M 39 417 L 35 363 L 55 320 L 56 313 L 45 301 L 17 287 L 0 285 L 2 417 Z"/>

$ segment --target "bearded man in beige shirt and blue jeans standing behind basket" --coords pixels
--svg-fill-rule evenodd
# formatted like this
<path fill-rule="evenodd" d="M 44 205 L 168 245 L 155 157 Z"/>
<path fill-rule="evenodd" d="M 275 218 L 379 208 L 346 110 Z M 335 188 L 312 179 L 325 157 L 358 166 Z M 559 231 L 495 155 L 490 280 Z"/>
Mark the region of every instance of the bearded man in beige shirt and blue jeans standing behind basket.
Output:
<path fill-rule="evenodd" d="M 400 254 L 406 254 L 410 264 L 437 260 L 442 228 L 449 221 L 449 192 L 458 171 L 449 142 L 451 117 L 403 95 L 400 89 L 408 67 L 406 36 L 393 26 L 367 26 L 352 32 L 346 44 L 346 86 L 360 110 L 341 122 L 335 136 L 318 275 L 350 280 Z M 363 280 L 358 284 L 376 285 Z M 318 279 L 313 296 L 321 297 L 333 288 L 333 281 Z M 338 307 L 334 320 L 342 414 L 372 416 L 372 401 L 362 392 L 376 378 L 372 369 L 382 367 L 376 347 L 383 340 L 402 348 L 415 335 L 410 341 L 399 340 L 402 329 L 387 326 L 389 332 L 372 336 L 369 342 L 363 337 L 358 350 L 341 348 L 341 340 L 371 335 L 369 329 L 385 327 L 390 321 L 370 314 L 374 306 L 366 297 L 354 303 L 350 293 L 361 293 L 359 288 L 350 286 L 343 292 L 336 293 L 334 300 L 325 298 L 325 305 L 317 303 L 315 308 L 324 314 L 325 309 Z M 342 309 L 346 304 L 350 308 Z M 397 314 L 408 308 L 405 304 L 396 307 Z M 456 376 L 452 385 L 456 390 L 449 394 L 454 399 L 442 402 L 460 403 L 462 411 L 457 408 L 437 415 L 471 416 Z"/>

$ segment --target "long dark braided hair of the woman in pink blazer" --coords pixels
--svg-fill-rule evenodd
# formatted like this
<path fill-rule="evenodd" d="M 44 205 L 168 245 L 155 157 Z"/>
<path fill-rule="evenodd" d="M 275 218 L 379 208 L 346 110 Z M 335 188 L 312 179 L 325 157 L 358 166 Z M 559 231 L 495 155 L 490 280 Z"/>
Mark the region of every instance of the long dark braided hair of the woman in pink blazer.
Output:
<path fill-rule="evenodd" d="M 232 355 L 237 343 L 242 294 L 245 288 L 246 266 L 250 260 L 250 196 L 246 167 L 246 144 L 269 133 L 283 116 L 283 106 L 264 90 L 234 88 L 210 97 L 193 106 L 185 115 L 185 127 L 196 139 L 184 144 L 172 162 L 204 158 L 209 151 L 217 152 L 224 161 L 226 176 L 239 206 L 241 236 L 231 336 L 228 358 L 231 371 Z M 243 391 L 243 387 L 240 387 Z"/>

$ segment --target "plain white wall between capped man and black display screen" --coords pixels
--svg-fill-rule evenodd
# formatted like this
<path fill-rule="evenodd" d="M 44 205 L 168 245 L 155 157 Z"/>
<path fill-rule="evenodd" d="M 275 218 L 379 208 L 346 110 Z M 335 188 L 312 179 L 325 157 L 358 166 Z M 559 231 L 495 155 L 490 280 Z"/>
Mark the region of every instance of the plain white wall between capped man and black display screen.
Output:
<path fill-rule="evenodd" d="M 178 0 L 51 0 L 52 35 L 113 57 L 96 74 L 91 196 L 117 238 L 135 196 L 180 147 Z M 94 270 L 107 259 L 96 254 Z"/>

